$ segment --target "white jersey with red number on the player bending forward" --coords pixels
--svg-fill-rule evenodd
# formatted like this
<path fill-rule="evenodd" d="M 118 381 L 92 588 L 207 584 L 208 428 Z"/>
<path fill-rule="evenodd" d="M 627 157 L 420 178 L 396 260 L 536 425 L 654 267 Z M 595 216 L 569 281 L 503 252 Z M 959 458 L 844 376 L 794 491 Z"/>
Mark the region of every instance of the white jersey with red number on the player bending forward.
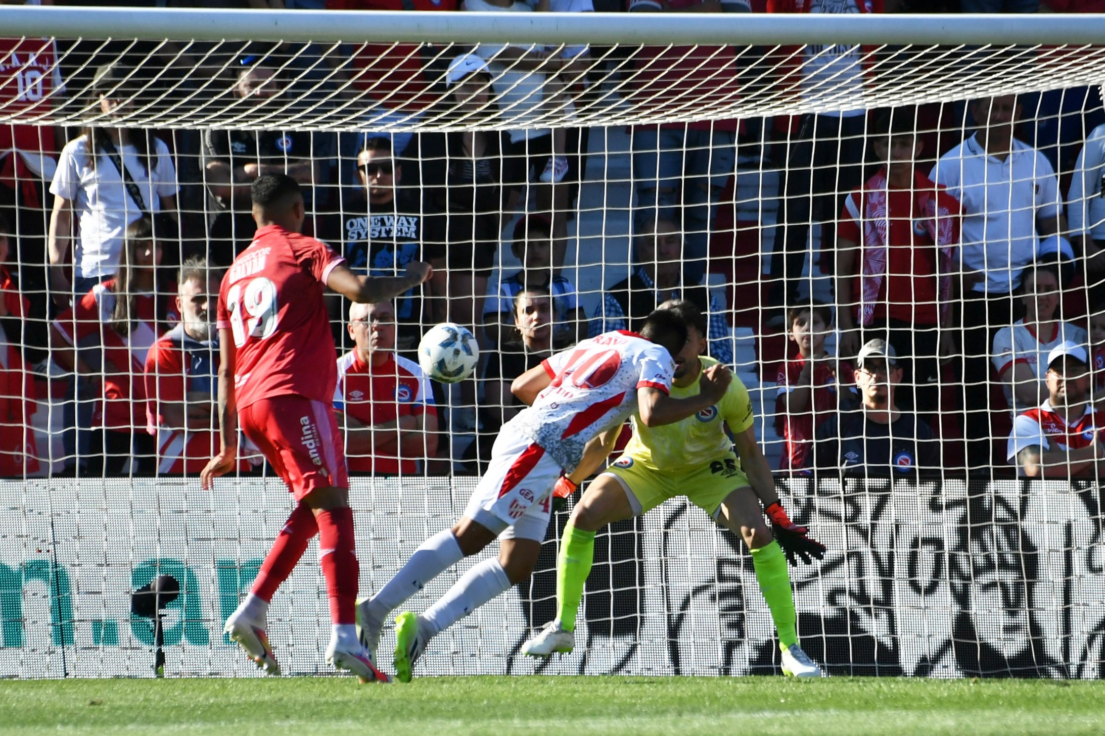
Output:
<path fill-rule="evenodd" d="M 589 439 L 636 410 L 638 388 L 671 391 L 675 361 L 666 348 L 615 330 L 556 353 L 541 366 L 552 382 L 501 433 L 527 437 L 570 473 Z"/>

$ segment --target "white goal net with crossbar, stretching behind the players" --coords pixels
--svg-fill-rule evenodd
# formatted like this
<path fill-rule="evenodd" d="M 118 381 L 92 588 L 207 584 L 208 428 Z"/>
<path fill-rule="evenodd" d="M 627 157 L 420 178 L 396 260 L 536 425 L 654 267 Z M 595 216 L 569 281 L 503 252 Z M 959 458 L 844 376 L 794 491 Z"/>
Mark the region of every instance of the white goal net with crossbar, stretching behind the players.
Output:
<path fill-rule="evenodd" d="M 249 447 L 198 478 L 207 297 L 271 172 L 354 270 L 435 269 L 327 297 L 362 595 L 462 513 L 514 377 L 681 298 L 828 547 L 791 570 L 827 671 L 1101 676 L 1105 21 L 512 8 L 0 8 L 0 676 L 151 675 L 131 594 L 165 575 L 165 672 L 252 672 L 222 621 L 287 494 Z M 481 348 L 457 384 L 417 364 L 446 320 Z M 683 497 L 600 533 L 571 655 L 522 657 L 569 511 L 419 672 L 778 672 L 747 550 Z M 309 559 L 269 616 L 302 674 Z"/>

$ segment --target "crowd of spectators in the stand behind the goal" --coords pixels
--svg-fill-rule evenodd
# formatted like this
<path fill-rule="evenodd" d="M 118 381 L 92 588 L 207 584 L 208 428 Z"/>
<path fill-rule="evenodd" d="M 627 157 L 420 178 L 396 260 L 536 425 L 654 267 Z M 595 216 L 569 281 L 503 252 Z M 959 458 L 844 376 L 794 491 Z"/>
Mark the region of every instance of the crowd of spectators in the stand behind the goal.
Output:
<path fill-rule="evenodd" d="M 220 7 L 235 4 L 618 9 L 592 0 Z M 975 12 L 1046 9 L 1013 4 L 962 0 Z M 1077 3 L 1046 4 L 1070 11 Z M 624 10 L 917 9 L 892 0 L 629 0 Z M 303 184 L 306 232 L 339 249 L 354 270 L 393 275 L 415 259 L 434 266 L 425 287 L 392 303 L 345 314 L 340 300 L 330 302 L 340 353 L 335 404 L 355 472 L 449 470 L 442 460 L 465 447 L 475 463 L 467 467 L 477 467 L 490 442 L 463 440 L 494 437 L 517 410 L 513 377 L 589 335 L 633 330 L 671 299 L 707 316 L 709 353 L 733 363 L 733 305 L 708 288 L 708 274 L 718 204 L 748 141 L 760 166 L 780 171 L 760 326 L 789 343 L 775 409 L 780 470 L 992 470 L 1008 459 L 1010 472 L 1055 477 L 1103 467 L 1093 460 L 1105 455 L 1105 414 L 1095 408 L 1105 407 L 1105 290 L 1095 290 L 1105 279 L 1105 124 L 1093 128 L 1105 120 L 1099 100 L 1073 116 L 1053 106 L 1052 116 L 1044 97 L 974 99 L 948 106 L 957 122 L 935 139 L 924 132 L 932 110 L 914 107 L 632 126 L 630 264 L 607 279 L 587 314 L 564 268 L 588 130 L 530 125 L 549 110 L 573 119 L 572 92 L 591 84 L 594 57 L 586 47 L 477 44 L 446 58 L 409 44 L 251 44 L 229 71 L 213 72 L 243 127 L 194 137 L 112 125 L 144 94 L 134 56 L 113 50 L 101 50 L 110 56 L 103 64 L 66 70 L 55 64 L 66 49 L 53 41 L 0 41 L 0 58 L 28 60 L 0 65 L 4 74 L 36 75 L 33 105 L 85 89 L 101 114 L 96 126 L 80 129 L 0 127 L 0 474 L 202 467 L 214 442 L 219 362 L 210 308 L 220 269 L 256 230 L 250 184 L 269 172 Z M 696 94 L 727 94 L 746 78 L 748 62 L 717 52 L 643 50 L 622 94 L 630 104 L 662 103 L 677 94 L 674 76 L 686 74 L 706 85 Z M 803 53 L 794 71 L 800 94 L 832 78 L 862 96 L 857 47 Z M 296 85 L 323 67 L 336 92 L 368 90 L 385 106 L 375 128 L 366 122 L 364 131 L 338 135 L 256 124 L 309 105 L 313 93 Z M 382 131 L 387 120 L 417 119 L 442 102 L 461 124 L 486 119 L 493 107 L 505 122 L 497 127 L 507 129 Z M 1020 125 L 1030 104 L 1033 119 L 1060 118 L 1055 145 L 1040 145 L 1040 126 Z M 1074 138 L 1072 117 L 1081 124 Z M 496 268 L 504 231 L 516 273 Z M 808 245 L 811 233 L 820 254 Z M 809 288 L 813 264 L 806 259 L 819 256 L 834 307 Z M 428 381 L 414 355 L 427 326 L 444 320 L 472 328 L 485 354 L 477 380 L 455 393 Z M 59 383 L 65 416 L 51 428 L 61 427 L 60 456 L 39 447 L 31 430 L 36 397 L 44 386 L 57 398 Z M 957 423 L 959 435 L 949 434 Z M 1003 457 L 998 428 L 1010 425 Z M 1090 459 L 1055 460 L 1055 452 L 1075 451 Z M 254 471 L 251 459 L 243 458 L 243 472 Z"/>

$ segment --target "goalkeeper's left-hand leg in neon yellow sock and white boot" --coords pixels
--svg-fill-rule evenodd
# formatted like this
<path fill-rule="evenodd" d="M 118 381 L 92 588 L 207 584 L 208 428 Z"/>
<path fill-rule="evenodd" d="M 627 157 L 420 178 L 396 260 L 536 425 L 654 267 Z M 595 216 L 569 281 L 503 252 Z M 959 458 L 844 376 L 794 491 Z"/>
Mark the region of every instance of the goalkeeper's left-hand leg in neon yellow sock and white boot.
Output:
<path fill-rule="evenodd" d="M 557 617 L 522 646 L 523 654 L 550 657 L 575 648 L 576 617 L 594 561 L 594 535 L 603 526 L 634 514 L 625 489 L 614 476 L 602 473 L 587 488 L 572 509 L 560 540 L 556 564 Z"/>

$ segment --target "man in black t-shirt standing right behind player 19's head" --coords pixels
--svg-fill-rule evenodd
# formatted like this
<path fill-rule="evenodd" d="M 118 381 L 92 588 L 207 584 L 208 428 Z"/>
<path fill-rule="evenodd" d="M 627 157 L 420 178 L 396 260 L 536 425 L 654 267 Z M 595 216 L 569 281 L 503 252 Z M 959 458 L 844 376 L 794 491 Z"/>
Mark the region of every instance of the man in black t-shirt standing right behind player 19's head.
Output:
<path fill-rule="evenodd" d="M 263 61 L 245 66 L 234 84 L 234 97 L 259 115 L 271 114 L 287 84 L 277 70 Z M 249 115 L 248 108 L 241 110 Z M 253 239 L 256 224 L 250 214 L 250 185 L 257 177 L 283 173 L 309 192 L 319 182 L 317 161 L 309 132 L 283 130 L 204 130 L 201 141 L 203 181 L 214 199 L 218 214 L 211 222 L 210 259 L 228 266 Z M 206 255 L 206 254 L 204 254 Z"/>

